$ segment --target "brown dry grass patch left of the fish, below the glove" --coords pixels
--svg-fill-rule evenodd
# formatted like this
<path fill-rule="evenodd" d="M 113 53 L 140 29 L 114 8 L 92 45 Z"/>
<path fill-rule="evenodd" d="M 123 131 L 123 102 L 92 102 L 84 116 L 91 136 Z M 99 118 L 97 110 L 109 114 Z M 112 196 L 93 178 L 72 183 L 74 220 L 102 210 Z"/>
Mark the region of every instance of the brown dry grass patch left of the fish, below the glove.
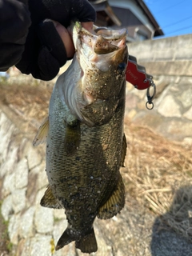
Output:
<path fill-rule="evenodd" d="M 2 84 L 0 85 L 0 101 L 10 106 L 24 120 L 34 124 L 34 121 L 41 122 L 48 114 L 52 89 L 53 86 L 48 86 L 46 82 L 38 85 L 19 84 L 18 86 Z"/>

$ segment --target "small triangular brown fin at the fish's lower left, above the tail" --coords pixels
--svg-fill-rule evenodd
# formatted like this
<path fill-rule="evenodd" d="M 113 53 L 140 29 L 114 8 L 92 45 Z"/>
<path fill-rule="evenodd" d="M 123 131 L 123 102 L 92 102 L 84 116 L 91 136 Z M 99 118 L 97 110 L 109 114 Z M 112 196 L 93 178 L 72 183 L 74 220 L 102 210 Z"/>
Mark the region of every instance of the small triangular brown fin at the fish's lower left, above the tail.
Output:
<path fill-rule="evenodd" d="M 62 206 L 58 203 L 57 199 L 54 197 L 54 194 L 51 190 L 50 185 L 47 186 L 46 192 L 42 197 L 40 205 L 48 208 L 62 209 Z"/>

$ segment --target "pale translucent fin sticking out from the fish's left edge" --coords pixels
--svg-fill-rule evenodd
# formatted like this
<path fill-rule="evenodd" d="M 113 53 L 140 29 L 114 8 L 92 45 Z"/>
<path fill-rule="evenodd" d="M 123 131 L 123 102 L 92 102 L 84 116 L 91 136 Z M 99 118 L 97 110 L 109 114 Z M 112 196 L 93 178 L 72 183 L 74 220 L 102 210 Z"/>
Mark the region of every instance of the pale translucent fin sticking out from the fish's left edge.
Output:
<path fill-rule="evenodd" d="M 38 133 L 34 137 L 33 145 L 38 146 L 46 142 L 47 134 L 49 130 L 49 117 L 45 118 L 42 125 L 38 128 Z"/>

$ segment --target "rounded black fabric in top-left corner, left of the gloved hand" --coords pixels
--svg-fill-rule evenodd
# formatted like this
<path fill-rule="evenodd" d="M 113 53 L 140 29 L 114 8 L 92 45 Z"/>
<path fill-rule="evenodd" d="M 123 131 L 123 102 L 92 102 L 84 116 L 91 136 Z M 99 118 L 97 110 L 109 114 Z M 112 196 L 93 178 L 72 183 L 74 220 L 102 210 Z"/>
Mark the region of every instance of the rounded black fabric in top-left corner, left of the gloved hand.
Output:
<path fill-rule="evenodd" d="M 22 58 L 29 26 L 25 0 L 0 0 L 0 71 L 8 70 Z"/>

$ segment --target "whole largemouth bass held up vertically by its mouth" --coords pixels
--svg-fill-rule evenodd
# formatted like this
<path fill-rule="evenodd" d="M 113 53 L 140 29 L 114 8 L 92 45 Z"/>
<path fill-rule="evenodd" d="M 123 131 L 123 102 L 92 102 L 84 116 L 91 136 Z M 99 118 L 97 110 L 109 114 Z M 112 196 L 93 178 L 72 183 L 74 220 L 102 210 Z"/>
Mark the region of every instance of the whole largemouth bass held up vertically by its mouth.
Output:
<path fill-rule="evenodd" d="M 65 208 L 68 220 L 56 250 L 75 241 L 91 253 L 98 250 L 96 216 L 112 218 L 125 204 L 126 30 L 94 26 L 90 33 L 76 22 L 73 40 L 76 54 L 54 86 L 34 146 L 46 138 L 49 186 L 41 205 Z"/>

